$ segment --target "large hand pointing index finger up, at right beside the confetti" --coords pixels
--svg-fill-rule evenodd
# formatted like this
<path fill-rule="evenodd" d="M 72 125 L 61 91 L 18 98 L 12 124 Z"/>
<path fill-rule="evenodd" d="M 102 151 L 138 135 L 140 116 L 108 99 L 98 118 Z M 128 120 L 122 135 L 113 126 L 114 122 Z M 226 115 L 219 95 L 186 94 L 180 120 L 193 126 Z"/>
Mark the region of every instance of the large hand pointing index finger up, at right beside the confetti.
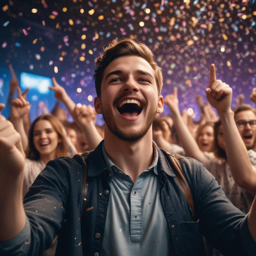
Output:
<path fill-rule="evenodd" d="M 205 92 L 208 102 L 218 113 L 231 109 L 232 89 L 225 82 L 216 79 L 214 64 L 210 65 L 209 87 Z"/>

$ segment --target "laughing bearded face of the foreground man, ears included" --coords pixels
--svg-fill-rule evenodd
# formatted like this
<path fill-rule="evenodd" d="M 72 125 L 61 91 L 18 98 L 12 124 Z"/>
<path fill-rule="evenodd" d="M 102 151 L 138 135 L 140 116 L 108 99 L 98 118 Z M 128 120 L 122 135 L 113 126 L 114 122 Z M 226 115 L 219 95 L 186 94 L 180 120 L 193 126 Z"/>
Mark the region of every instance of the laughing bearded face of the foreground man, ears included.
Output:
<path fill-rule="evenodd" d="M 138 56 L 120 56 L 103 72 L 101 96 L 94 106 L 102 113 L 106 128 L 122 140 L 134 141 L 146 134 L 156 112 L 163 109 L 154 70 Z"/>

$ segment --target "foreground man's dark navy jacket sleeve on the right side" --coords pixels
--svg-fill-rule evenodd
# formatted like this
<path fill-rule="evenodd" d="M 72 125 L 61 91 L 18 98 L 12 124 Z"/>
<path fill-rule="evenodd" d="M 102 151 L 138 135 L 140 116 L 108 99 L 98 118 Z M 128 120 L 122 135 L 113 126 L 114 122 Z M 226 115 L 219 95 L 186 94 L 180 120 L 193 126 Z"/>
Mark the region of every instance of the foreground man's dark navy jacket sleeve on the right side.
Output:
<path fill-rule="evenodd" d="M 256 255 L 247 215 L 227 199 L 221 186 L 201 163 L 190 161 L 193 165 L 190 170 L 197 173 L 188 173 L 188 183 L 192 188 L 195 214 L 208 243 L 224 255 Z"/>

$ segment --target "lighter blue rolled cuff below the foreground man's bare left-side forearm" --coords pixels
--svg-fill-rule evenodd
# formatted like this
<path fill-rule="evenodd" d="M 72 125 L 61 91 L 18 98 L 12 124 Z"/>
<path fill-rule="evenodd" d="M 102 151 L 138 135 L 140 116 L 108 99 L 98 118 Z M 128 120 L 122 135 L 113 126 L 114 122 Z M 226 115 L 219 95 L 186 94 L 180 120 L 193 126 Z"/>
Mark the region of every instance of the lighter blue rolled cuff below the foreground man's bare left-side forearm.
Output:
<path fill-rule="evenodd" d="M 30 247 L 30 225 L 26 217 L 26 223 L 21 232 L 14 238 L 0 242 L 1 256 L 23 256 L 28 255 Z"/>

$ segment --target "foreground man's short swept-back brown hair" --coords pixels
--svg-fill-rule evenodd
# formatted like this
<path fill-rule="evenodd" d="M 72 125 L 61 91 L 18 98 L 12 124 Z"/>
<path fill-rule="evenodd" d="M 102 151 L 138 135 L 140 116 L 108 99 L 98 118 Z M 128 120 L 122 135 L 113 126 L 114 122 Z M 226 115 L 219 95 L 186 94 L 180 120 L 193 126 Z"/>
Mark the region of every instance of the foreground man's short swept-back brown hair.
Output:
<path fill-rule="evenodd" d="M 153 52 L 141 41 L 132 40 L 130 38 L 122 38 L 118 41 L 113 40 L 103 48 L 103 52 L 96 60 L 96 68 L 94 73 L 95 88 L 97 96 L 100 97 L 100 87 L 103 79 L 103 72 L 107 65 L 117 57 L 124 55 L 135 55 L 144 58 L 154 70 L 158 94 L 162 89 L 162 71 L 154 61 Z"/>

